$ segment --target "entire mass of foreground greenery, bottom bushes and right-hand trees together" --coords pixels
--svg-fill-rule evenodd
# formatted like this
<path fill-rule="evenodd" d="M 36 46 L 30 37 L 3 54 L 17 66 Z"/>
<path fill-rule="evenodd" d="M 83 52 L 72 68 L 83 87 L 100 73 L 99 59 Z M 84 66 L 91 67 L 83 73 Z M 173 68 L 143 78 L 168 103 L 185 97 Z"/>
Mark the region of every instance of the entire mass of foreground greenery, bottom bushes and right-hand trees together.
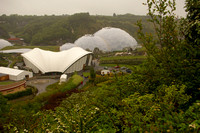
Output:
<path fill-rule="evenodd" d="M 4 132 L 199 132 L 200 3 L 186 0 L 184 21 L 173 14 L 174 0 L 146 4 L 156 36 L 144 33 L 138 22 L 147 58 L 132 74 L 96 76 L 91 69 L 92 82 L 75 93 L 67 85 L 52 85 L 50 91 L 60 93 L 12 105 L 0 115 Z M 0 101 L 8 110 L 1 95 Z"/>

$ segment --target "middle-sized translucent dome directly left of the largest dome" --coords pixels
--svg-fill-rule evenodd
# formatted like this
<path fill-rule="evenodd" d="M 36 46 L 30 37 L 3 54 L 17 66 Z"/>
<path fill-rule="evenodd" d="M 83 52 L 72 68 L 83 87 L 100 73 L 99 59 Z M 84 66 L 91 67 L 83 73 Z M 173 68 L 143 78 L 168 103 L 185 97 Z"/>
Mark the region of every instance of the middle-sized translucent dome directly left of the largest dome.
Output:
<path fill-rule="evenodd" d="M 75 41 L 75 44 L 83 49 L 93 51 L 96 47 L 102 51 L 110 51 L 109 45 L 99 36 L 85 35 Z"/>

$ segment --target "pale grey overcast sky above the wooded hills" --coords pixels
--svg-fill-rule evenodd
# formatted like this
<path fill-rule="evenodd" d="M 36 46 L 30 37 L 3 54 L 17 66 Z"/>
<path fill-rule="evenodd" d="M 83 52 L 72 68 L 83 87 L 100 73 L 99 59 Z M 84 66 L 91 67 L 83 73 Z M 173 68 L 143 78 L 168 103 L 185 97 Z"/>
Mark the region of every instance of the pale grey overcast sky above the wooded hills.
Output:
<path fill-rule="evenodd" d="M 146 15 L 146 0 L 0 0 L 0 15 L 62 15 L 89 12 L 91 15 L 131 13 Z M 178 16 L 185 17 L 185 0 L 176 0 Z"/>

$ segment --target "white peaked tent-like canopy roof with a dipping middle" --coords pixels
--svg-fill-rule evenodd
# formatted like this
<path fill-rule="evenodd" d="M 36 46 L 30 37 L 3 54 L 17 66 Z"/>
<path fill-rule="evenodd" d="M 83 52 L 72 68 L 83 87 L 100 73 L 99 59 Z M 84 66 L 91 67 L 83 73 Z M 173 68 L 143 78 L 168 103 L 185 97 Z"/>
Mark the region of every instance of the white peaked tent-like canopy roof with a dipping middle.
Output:
<path fill-rule="evenodd" d="M 42 73 L 64 73 L 68 68 L 71 67 L 71 65 L 88 54 L 91 54 L 91 52 L 85 51 L 80 47 L 73 47 L 69 50 L 64 50 L 61 52 L 51 52 L 34 48 L 33 50 L 22 54 L 22 56 L 24 57 L 26 66 L 32 68 L 35 72 L 41 71 Z"/>

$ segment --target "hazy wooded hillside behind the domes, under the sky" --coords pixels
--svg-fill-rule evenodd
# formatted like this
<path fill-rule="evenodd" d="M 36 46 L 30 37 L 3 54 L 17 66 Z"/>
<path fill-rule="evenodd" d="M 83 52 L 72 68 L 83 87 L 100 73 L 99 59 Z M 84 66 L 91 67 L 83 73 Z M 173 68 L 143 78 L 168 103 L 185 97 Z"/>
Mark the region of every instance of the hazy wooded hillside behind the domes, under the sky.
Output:
<path fill-rule="evenodd" d="M 113 16 L 93 16 L 89 13 L 78 13 L 62 16 L 0 16 L 0 38 L 9 38 L 9 33 L 23 38 L 28 45 L 60 45 L 73 43 L 85 34 L 93 34 L 103 27 L 121 28 L 137 41 L 135 25 L 142 20 L 145 32 L 153 32 L 148 16 L 132 14 Z"/>

